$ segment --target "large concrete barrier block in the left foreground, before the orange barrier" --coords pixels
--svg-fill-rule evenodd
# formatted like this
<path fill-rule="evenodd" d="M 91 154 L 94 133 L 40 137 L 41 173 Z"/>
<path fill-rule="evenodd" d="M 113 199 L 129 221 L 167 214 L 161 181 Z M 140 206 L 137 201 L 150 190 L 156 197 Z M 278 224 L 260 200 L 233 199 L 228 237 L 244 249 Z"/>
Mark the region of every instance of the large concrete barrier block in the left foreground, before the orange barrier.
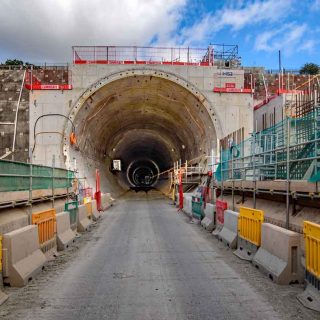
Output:
<path fill-rule="evenodd" d="M 46 263 L 40 250 L 38 227 L 29 225 L 3 235 L 3 280 L 22 287 L 39 273 Z"/>

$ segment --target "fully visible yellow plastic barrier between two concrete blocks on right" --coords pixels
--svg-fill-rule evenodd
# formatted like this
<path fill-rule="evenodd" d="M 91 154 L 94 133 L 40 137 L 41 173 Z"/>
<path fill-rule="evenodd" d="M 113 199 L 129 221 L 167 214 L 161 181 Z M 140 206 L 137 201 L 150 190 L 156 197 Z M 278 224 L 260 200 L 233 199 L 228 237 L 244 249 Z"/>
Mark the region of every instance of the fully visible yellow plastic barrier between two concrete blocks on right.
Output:
<path fill-rule="evenodd" d="M 263 216 L 262 210 L 240 207 L 238 220 L 239 235 L 258 247 L 261 245 Z"/>

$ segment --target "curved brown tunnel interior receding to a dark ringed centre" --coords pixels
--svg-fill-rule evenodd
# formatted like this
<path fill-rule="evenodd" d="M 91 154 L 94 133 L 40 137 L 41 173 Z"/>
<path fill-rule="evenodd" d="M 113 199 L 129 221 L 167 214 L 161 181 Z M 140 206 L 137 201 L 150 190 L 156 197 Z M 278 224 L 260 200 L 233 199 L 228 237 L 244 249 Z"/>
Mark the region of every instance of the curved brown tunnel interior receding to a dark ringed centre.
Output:
<path fill-rule="evenodd" d="M 109 186 L 168 187 L 160 174 L 181 159 L 209 155 L 216 145 L 211 117 L 199 98 L 183 86 L 152 75 L 132 75 L 94 92 L 74 124 L 80 161 L 103 164 Z M 121 161 L 121 171 L 113 170 Z"/>

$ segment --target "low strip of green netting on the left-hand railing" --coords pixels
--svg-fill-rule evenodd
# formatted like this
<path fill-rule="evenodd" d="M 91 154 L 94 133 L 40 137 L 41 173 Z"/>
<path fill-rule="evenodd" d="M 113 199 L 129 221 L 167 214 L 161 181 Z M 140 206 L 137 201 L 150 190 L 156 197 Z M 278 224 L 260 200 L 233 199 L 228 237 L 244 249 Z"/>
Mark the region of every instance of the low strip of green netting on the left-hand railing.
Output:
<path fill-rule="evenodd" d="M 30 187 L 30 164 L 0 160 L 0 192 L 24 191 Z M 69 188 L 74 173 L 61 168 L 32 165 L 32 189 Z"/>

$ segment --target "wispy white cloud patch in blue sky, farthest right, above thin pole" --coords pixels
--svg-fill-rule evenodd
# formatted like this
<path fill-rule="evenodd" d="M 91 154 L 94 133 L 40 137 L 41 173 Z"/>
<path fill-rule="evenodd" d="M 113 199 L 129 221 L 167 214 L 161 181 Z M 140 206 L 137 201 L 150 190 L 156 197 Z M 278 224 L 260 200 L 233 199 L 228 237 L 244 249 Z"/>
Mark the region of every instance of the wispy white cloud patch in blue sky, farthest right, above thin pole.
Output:
<path fill-rule="evenodd" d="M 289 23 L 280 28 L 262 32 L 256 37 L 255 49 L 266 52 L 281 50 L 287 55 L 290 55 L 294 50 L 310 50 L 315 42 L 304 39 L 307 30 L 306 24 Z"/>

